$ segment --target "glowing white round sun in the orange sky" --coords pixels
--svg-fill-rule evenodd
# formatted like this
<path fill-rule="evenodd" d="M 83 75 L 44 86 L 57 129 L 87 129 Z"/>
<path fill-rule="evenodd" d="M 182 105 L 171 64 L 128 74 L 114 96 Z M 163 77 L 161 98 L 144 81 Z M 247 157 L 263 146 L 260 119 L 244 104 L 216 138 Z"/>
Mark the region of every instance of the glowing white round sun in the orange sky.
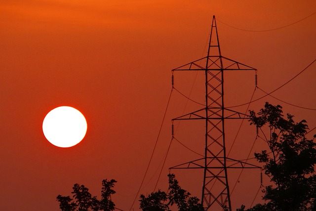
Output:
<path fill-rule="evenodd" d="M 57 107 L 43 120 L 46 139 L 57 147 L 72 147 L 85 136 L 87 122 L 77 109 L 69 106 Z"/>

